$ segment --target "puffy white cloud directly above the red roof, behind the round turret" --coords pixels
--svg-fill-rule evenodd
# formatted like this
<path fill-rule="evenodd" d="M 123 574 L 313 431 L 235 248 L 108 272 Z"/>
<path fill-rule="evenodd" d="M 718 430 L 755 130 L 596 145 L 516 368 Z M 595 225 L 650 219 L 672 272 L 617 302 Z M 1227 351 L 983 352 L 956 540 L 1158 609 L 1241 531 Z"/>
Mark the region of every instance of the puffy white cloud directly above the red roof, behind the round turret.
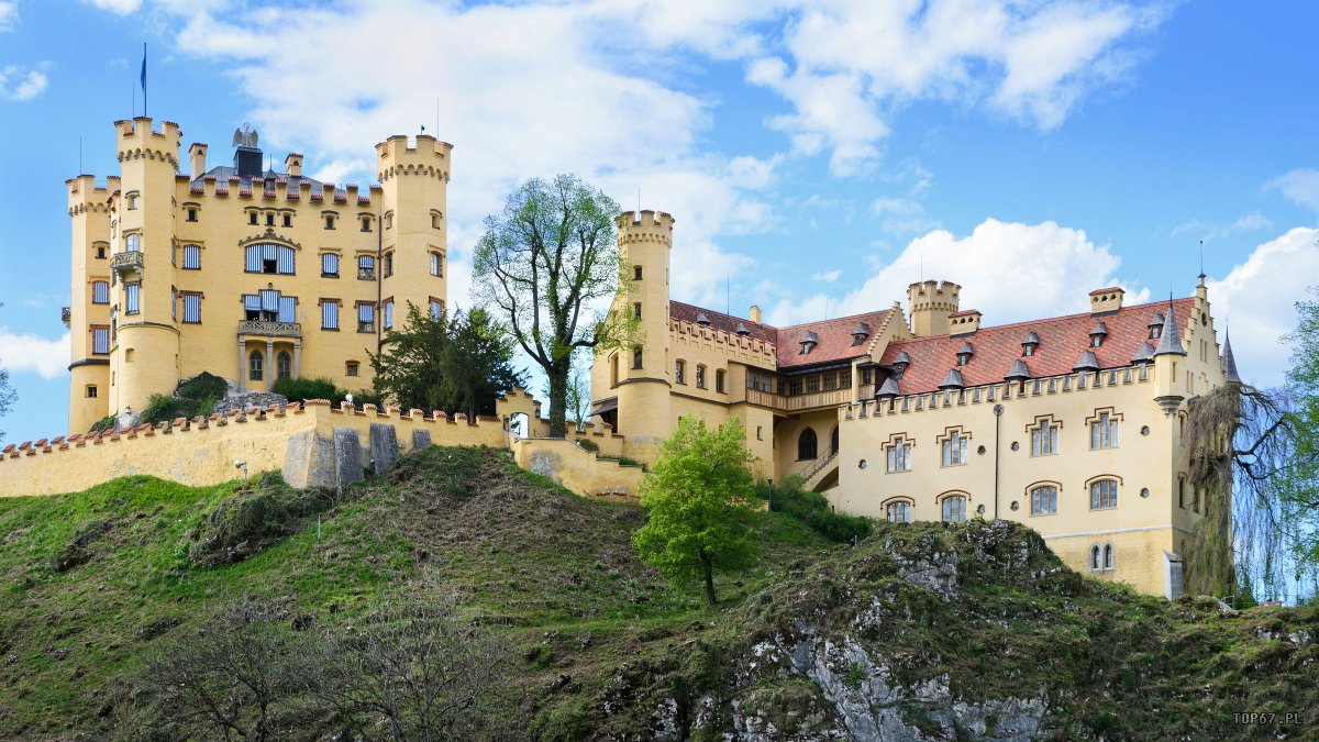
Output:
<path fill-rule="evenodd" d="M 1149 290 L 1132 290 L 1115 277 L 1120 264 L 1108 246 L 1096 246 L 1082 230 L 987 219 L 964 238 L 936 230 L 911 240 L 860 289 L 831 302 L 830 316 L 906 305 L 907 285 L 922 271 L 925 279 L 960 284 L 962 308 L 983 312 L 987 326 L 1086 312 L 1089 292 L 1109 285 L 1126 288 L 1130 304 L 1148 301 Z M 774 320 L 818 318 L 822 298 L 782 301 Z"/>

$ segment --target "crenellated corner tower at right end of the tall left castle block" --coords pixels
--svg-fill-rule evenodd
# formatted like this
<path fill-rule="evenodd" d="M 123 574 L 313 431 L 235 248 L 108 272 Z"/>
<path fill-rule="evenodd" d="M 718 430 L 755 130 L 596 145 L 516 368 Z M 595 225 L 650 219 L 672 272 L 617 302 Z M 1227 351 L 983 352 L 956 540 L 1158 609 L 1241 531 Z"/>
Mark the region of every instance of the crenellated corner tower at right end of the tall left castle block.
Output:
<path fill-rule="evenodd" d="M 396 135 L 376 145 L 381 199 L 381 322 L 401 327 L 408 305 L 434 313 L 448 298 L 448 165 L 452 144 Z M 397 298 L 396 298 L 397 297 Z M 426 304 L 422 304 L 426 302 Z"/>

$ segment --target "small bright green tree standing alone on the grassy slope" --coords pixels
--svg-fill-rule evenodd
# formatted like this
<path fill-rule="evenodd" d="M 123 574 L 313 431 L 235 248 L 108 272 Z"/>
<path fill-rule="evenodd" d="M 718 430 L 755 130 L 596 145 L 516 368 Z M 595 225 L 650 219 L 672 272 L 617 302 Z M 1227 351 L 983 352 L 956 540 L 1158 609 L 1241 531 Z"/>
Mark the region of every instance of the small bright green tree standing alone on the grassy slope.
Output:
<path fill-rule="evenodd" d="M 650 518 L 632 544 L 670 577 L 703 580 L 710 605 L 715 572 L 747 569 L 758 551 L 749 524 L 760 506 L 751 471 L 756 457 L 743 446 L 745 438 L 736 417 L 714 430 L 683 417 L 641 486 Z"/>

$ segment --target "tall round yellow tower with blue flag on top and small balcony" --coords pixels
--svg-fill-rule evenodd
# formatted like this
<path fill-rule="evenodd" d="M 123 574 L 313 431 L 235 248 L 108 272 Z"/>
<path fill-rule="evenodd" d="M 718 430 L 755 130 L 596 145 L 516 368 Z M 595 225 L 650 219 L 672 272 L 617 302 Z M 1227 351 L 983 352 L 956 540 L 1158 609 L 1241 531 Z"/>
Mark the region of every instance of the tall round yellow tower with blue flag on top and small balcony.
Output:
<path fill-rule="evenodd" d="M 182 132 L 173 121 L 115 121 L 120 193 L 115 198 L 111 269 L 109 409 L 141 411 L 153 393 L 178 384 L 174 320 L 174 174 Z"/>

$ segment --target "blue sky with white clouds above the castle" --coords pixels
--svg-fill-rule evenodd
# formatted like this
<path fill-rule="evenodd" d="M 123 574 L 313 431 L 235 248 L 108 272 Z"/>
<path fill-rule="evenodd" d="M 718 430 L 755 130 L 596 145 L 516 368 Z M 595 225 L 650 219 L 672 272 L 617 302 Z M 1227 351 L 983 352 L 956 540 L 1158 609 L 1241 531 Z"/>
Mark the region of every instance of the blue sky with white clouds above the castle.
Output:
<path fill-rule="evenodd" d="M 1184 296 L 1203 240 L 1242 375 L 1273 384 L 1319 284 L 1316 28 L 1312 3 L 0 0 L 0 429 L 65 432 L 63 181 L 79 141 L 115 172 L 142 42 L 148 114 L 212 164 L 244 121 L 336 182 L 392 133 L 454 143 L 456 304 L 481 218 L 571 170 L 674 214 L 675 298 L 774 323 L 922 275 L 987 323 Z"/>

